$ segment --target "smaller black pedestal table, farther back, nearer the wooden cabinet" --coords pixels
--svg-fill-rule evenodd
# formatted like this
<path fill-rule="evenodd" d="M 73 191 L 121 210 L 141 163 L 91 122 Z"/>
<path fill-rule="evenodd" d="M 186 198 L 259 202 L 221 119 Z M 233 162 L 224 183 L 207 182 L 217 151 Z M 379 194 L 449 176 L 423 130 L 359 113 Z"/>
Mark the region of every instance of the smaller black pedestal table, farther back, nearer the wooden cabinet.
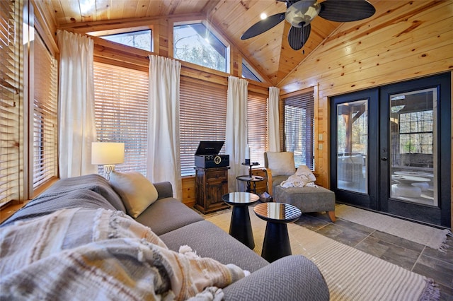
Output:
<path fill-rule="evenodd" d="M 259 199 L 259 196 L 249 192 L 230 192 L 222 196 L 222 200 L 225 203 L 233 206 L 231 222 L 229 224 L 229 235 L 250 249 L 255 247 L 255 241 L 253 240 L 248 206 L 256 203 Z"/>

